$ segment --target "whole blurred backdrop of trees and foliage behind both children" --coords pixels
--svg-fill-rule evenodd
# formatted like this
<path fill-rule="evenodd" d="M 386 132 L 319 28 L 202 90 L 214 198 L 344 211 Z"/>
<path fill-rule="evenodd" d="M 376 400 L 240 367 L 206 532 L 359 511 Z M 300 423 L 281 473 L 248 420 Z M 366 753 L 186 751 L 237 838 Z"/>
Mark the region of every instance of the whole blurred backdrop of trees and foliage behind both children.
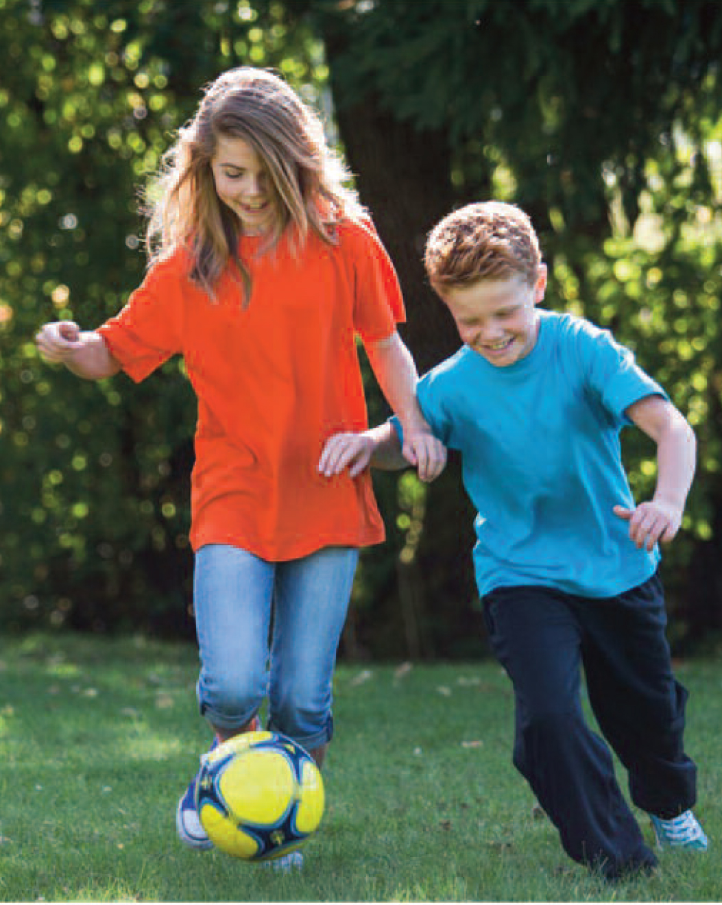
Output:
<path fill-rule="evenodd" d="M 139 192 L 219 71 L 271 66 L 322 111 L 391 252 L 421 371 L 458 348 L 426 233 L 498 197 L 532 215 L 546 304 L 613 329 L 698 434 L 663 560 L 679 652 L 722 628 L 722 5 L 717 0 L 0 0 L 0 624 L 193 636 L 183 363 L 140 386 L 45 365 L 142 279 Z M 366 370 L 372 423 L 386 408 Z M 654 449 L 624 433 L 638 499 Z M 486 650 L 459 462 L 375 476 L 342 653 Z"/>

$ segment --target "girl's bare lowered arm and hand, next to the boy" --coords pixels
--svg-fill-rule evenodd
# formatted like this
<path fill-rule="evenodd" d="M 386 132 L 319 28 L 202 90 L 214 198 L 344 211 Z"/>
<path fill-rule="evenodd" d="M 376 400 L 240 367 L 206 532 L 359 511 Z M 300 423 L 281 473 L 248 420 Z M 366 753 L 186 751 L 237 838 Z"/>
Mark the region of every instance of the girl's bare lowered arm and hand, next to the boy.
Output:
<path fill-rule="evenodd" d="M 446 450 L 434 437 L 416 401 L 419 376 L 411 352 L 394 330 L 390 337 L 368 343 L 366 354 L 386 401 L 404 429 L 404 458 L 418 468 L 422 481 L 432 480 L 442 471 Z"/>

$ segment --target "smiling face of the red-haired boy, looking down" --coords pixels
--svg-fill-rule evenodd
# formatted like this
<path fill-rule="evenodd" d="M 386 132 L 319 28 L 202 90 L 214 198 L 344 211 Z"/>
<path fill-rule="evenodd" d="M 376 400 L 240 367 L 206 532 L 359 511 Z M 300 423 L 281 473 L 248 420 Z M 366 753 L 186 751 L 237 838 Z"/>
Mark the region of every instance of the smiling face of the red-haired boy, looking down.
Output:
<path fill-rule="evenodd" d="M 544 299 L 546 265 L 529 286 L 520 276 L 480 280 L 446 289 L 442 299 L 456 321 L 461 340 L 496 367 L 526 357 L 537 342 L 537 304 Z"/>

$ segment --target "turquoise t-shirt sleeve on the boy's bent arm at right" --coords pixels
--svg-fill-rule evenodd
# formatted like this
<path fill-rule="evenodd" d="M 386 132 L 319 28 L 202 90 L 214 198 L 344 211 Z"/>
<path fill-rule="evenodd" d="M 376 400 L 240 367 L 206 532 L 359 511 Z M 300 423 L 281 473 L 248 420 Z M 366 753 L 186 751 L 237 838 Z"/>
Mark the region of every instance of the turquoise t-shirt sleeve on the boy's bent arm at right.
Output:
<path fill-rule="evenodd" d="M 669 398 L 637 365 L 631 349 L 616 342 L 609 330 L 583 322 L 576 344 L 586 386 L 615 421 L 630 424 L 625 410 L 645 396 Z"/>

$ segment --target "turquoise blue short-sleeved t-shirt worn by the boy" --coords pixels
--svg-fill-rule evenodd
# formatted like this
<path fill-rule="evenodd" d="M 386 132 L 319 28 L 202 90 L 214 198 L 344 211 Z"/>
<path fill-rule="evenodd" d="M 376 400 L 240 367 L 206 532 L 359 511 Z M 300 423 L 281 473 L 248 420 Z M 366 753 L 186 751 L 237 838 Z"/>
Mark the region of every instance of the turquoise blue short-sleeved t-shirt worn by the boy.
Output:
<path fill-rule="evenodd" d="M 433 433 L 461 452 L 478 510 L 480 595 L 514 585 L 621 594 L 654 574 L 658 548 L 638 549 L 613 506 L 633 507 L 622 467 L 624 410 L 667 395 L 608 330 L 540 310 L 537 344 L 509 367 L 468 346 L 417 387 Z M 397 419 L 396 430 L 401 433 Z"/>

